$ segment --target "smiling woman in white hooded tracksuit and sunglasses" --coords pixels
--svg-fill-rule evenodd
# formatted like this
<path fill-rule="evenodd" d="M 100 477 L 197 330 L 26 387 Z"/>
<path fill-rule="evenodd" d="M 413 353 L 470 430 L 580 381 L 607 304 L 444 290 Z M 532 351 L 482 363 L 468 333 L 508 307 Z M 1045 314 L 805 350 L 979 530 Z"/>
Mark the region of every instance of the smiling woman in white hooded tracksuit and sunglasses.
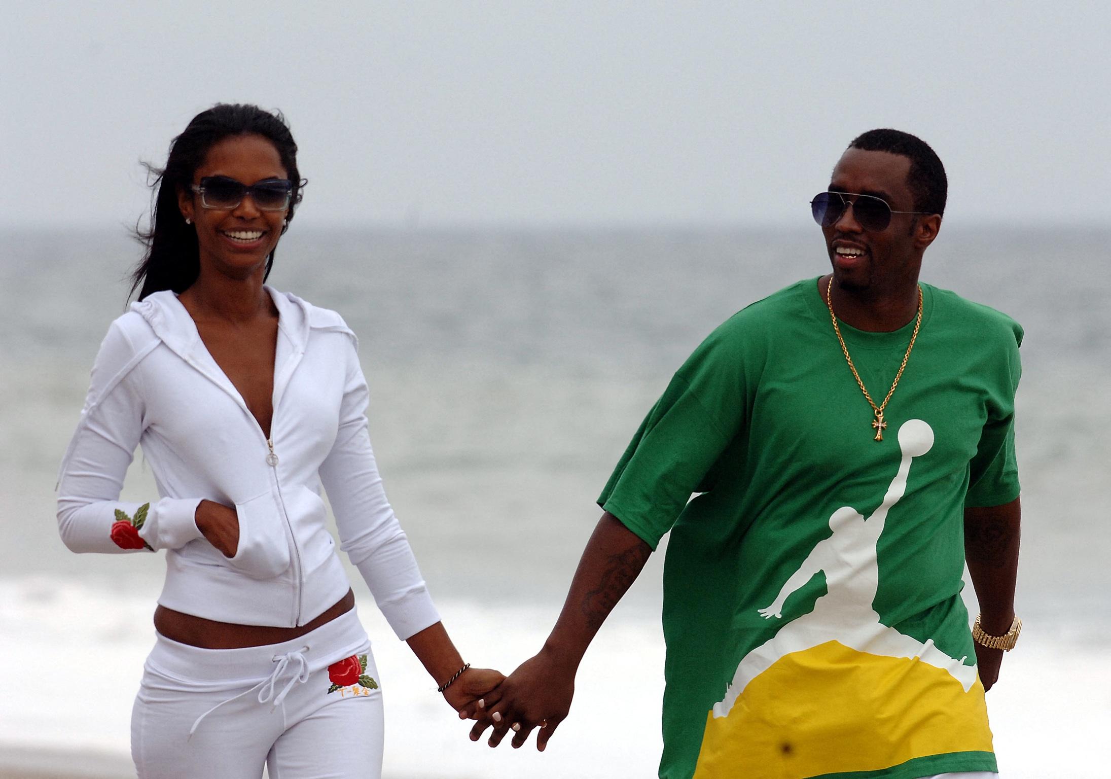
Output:
<path fill-rule="evenodd" d="M 61 467 L 77 552 L 164 549 L 157 641 L 131 721 L 139 777 L 379 777 L 382 699 L 326 527 L 448 703 L 502 679 L 464 665 L 374 465 L 356 338 L 263 286 L 301 199 L 280 117 L 219 104 L 154 186 L 139 301 L 112 322 Z M 142 443 L 161 499 L 118 500 Z"/>

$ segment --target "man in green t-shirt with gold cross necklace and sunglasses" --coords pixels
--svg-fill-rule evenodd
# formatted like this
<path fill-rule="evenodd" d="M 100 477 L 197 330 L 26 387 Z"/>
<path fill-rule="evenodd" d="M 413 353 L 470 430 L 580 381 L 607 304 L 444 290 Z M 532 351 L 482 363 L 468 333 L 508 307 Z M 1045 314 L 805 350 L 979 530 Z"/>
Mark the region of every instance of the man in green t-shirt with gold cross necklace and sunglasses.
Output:
<path fill-rule="evenodd" d="M 984 691 L 1020 626 L 1022 330 L 919 284 L 945 190 L 913 136 L 850 144 L 812 202 L 832 273 L 749 306 L 679 369 L 599 499 L 551 636 L 471 738 L 512 728 L 520 747 L 539 726 L 544 748 L 670 530 L 660 777 L 993 776 Z"/>

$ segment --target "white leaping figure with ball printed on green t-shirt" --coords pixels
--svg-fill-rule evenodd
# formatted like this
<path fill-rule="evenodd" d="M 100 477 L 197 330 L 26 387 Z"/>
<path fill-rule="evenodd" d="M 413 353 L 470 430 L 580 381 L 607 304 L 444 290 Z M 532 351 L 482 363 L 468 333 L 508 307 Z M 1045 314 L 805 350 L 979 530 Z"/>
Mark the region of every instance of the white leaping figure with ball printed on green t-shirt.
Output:
<path fill-rule="evenodd" d="M 965 658 L 954 660 L 938 649 L 932 638 L 921 643 L 900 633 L 880 622 L 880 616 L 872 609 L 880 583 L 875 545 L 883 532 L 888 511 L 907 492 L 911 460 L 925 455 L 932 446 L 933 430 L 929 425 L 921 419 L 910 419 L 902 423 L 899 428 L 902 460 L 880 507 L 867 520 L 849 506 L 834 511 L 830 517 L 830 530 L 833 535 L 814 546 L 799 570 L 783 585 L 771 606 L 759 611 L 765 619 L 782 618 L 788 596 L 810 581 L 818 571 L 825 572 L 827 593 L 814 601 L 813 611 L 788 622 L 778 633 L 741 659 L 737 673 L 725 690 L 725 697 L 713 706 L 714 717 L 728 716 L 748 683 L 781 657 L 831 640 L 869 655 L 917 658 L 948 671 L 961 682 L 965 692 L 971 689 L 975 681 L 975 668 L 965 666 Z"/>

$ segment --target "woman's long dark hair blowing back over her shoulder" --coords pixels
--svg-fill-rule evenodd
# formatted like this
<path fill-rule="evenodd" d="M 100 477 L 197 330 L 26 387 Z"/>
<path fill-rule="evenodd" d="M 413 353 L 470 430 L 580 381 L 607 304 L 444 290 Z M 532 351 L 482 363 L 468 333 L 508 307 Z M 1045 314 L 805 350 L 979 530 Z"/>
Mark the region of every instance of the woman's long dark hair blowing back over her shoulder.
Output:
<path fill-rule="evenodd" d="M 142 260 L 131 273 L 131 293 L 139 290 L 139 300 L 152 292 L 172 289 L 184 292 L 200 273 L 197 231 L 186 224 L 178 208 L 178 190 L 193 182 L 193 173 L 204 162 L 212 146 L 231 136 L 262 136 L 278 150 L 282 167 L 293 182 L 286 226 L 289 229 L 293 211 L 301 202 L 301 188 L 306 182 L 297 169 L 297 143 L 284 117 L 263 111 L 258 106 L 217 103 L 201 111 L 184 132 L 170 142 L 170 156 L 164 168 L 147 166 L 153 174 L 151 188 L 150 229 L 136 226 L 136 238 L 147 247 Z M 266 276 L 274 262 L 274 252 L 267 257 Z"/>

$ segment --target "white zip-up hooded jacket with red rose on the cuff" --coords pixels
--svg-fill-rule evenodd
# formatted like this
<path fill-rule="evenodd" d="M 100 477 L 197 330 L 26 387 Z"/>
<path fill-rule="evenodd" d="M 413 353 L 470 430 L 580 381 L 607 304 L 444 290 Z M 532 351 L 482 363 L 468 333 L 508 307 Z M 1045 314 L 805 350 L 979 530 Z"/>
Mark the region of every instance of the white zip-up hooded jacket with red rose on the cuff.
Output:
<path fill-rule="evenodd" d="M 343 319 L 267 288 L 278 308 L 269 441 L 171 291 L 112 322 L 77 431 L 62 460 L 58 525 L 77 552 L 122 552 L 114 510 L 136 445 L 154 475 L 140 536 L 167 550 L 159 603 L 222 622 L 302 626 L 347 592 L 327 528 L 400 638 L 439 621 L 393 515 L 367 431 L 367 382 Z M 202 500 L 234 506 L 239 547 L 224 557 L 201 535 Z"/>

